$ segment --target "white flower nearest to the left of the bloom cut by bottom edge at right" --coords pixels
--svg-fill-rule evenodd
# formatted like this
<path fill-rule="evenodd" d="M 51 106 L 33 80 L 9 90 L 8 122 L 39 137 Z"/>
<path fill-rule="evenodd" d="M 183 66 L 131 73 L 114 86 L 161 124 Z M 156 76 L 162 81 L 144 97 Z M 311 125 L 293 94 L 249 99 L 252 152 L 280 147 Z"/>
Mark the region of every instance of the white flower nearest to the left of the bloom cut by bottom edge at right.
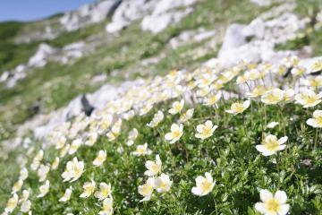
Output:
<path fill-rule="evenodd" d="M 191 192 L 199 196 L 207 195 L 212 191 L 215 184 L 216 184 L 216 181 L 214 181 L 210 173 L 207 172 L 205 173 L 205 177 L 198 176 L 196 178 L 196 186 L 192 187 Z"/>

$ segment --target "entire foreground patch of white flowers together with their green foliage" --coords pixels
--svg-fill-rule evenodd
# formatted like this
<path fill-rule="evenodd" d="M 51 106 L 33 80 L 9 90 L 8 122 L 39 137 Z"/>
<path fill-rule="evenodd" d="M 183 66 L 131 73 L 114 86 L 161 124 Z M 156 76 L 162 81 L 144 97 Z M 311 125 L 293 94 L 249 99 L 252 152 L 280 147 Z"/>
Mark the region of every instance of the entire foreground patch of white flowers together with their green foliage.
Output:
<path fill-rule="evenodd" d="M 318 214 L 322 61 L 300 63 L 147 80 L 30 149 L 4 214 Z"/>

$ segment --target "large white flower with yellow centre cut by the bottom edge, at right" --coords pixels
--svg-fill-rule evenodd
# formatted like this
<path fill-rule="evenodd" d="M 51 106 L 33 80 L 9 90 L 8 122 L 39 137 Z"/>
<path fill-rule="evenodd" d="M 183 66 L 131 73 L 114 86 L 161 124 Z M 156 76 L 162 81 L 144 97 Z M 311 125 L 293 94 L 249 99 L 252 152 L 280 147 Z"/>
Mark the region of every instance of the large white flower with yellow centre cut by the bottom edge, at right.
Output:
<path fill-rule="evenodd" d="M 260 191 L 260 200 L 255 204 L 256 211 L 264 215 L 285 215 L 290 205 L 286 203 L 287 195 L 284 191 L 276 191 L 275 195 L 267 190 Z"/>

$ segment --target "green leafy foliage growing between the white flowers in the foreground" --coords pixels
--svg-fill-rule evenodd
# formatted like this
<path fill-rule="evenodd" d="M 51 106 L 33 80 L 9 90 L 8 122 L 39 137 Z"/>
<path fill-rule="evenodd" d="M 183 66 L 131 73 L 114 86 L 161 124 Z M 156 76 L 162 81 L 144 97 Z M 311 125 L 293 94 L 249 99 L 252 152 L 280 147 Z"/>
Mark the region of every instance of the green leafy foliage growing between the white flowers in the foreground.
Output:
<path fill-rule="evenodd" d="M 93 196 L 86 200 L 77 197 L 82 192 L 82 184 L 91 178 L 95 178 L 97 183 L 112 184 L 115 214 L 255 214 L 253 205 L 259 201 L 259 188 L 284 190 L 289 197 L 292 214 L 318 214 L 322 210 L 322 151 L 320 147 L 317 150 L 311 148 L 315 132 L 305 125 L 305 119 L 310 116 L 301 107 L 292 104 L 284 107 L 284 133 L 282 126 L 274 130 L 262 130 L 263 107 L 256 102 L 252 112 L 249 109 L 238 116 L 224 114 L 224 110 L 230 106 L 227 101 L 221 102 L 220 108 L 216 110 L 220 117 L 215 115 L 213 108 L 197 106 L 191 121 L 184 125 L 181 140 L 169 146 L 164 134 L 169 131 L 177 116 L 167 115 L 156 130 L 146 126 L 157 110 L 167 111 L 167 104 L 155 107 L 147 116 L 136 116 L 129 123 L 123 124 L 117 142 L 108 142 L 102 136 L 92 148 L 81 146 L 75 155 L 65 157 L 59 169 L 48 176 L 52 183 L 51 190 L 42 199 L 34 197 L 39 183 L 38 176 L 31 173 L 25 188 L 30 187 L 35 192 L 31 197 L 33 212 L 97 214 L 100 206 Z M 280 121 L 279 111 L 278 107 L 268 107 L 269 121 Z M 291 117 L 293 121 L 290 121 Z M 194 137 L 195 127 L 206 119 L 211 119 L 218 128 L 212 137 L 200 141 Z M 125 145 L 127 133 L 133 127 L 138 129 L 140 135 L 136 144 L 128 147 Z M 287 135 L 287 150 L 278 152 L 277 156 L 260 155 L 255 145 L 260 143 L 262 132 L 278 137 Z M 144 142 L 148 142 L 153 155 L 146 158 L 131 155 L 135 145 Z M 117 152 L 119 146 L 123 146 L 123 154 Z M 103 167 L 94 168 L 91 160 L 95 159 L 98 150 L 106 150 L 107 159 Z M 46 151 L 44 162 L 51 162 L 57 152 L 53 149 Z M 146 178 L 143 175 L 145 160 L 154 159 L 157 153 L 163 161 L 163 172 L 169 174 L 174 182 L 171 193 L 165 193 L 162 197 L 154 193 L 150 202 L 140 203 L 137 187 Z M 63 183 L 60 175 L 66 162 L 74 156 L 85 161 L 86 171 L 77 182 Z M 276 159 L 277 164 L 273 163 L 273 159 Z M 311 165 L 304 165 L 304 159 L 309 159 Z M 195 185 L 194 178 L 206 171 L 214 176 L 216 186 L 207 196 L 194 196 L 191 193 L 191 187 Z M 73 187 L 71 201 L 57 202 L 70 185 Z M 11 186 L 4 187 L 4 192 L 9 193 Z M 7 197 L 7 194 L 3 195 L 1 202 Z"/>

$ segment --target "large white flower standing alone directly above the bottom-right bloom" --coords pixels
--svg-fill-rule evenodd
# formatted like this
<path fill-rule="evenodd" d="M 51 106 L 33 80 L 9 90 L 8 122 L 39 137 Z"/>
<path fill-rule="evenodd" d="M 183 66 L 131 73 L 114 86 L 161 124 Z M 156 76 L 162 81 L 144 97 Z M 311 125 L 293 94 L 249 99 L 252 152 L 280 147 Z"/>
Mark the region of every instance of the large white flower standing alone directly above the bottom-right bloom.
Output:
<path fill-rule="evenodd" d="M 264 156 L 270 156 L 278 150 L 284 150 L 286 147 L 285 142 L 287 142 L 287 136 L 277 140 L 275 135 L 269 134 L 260 145 L 256 146 L 256 149 Z"/>

